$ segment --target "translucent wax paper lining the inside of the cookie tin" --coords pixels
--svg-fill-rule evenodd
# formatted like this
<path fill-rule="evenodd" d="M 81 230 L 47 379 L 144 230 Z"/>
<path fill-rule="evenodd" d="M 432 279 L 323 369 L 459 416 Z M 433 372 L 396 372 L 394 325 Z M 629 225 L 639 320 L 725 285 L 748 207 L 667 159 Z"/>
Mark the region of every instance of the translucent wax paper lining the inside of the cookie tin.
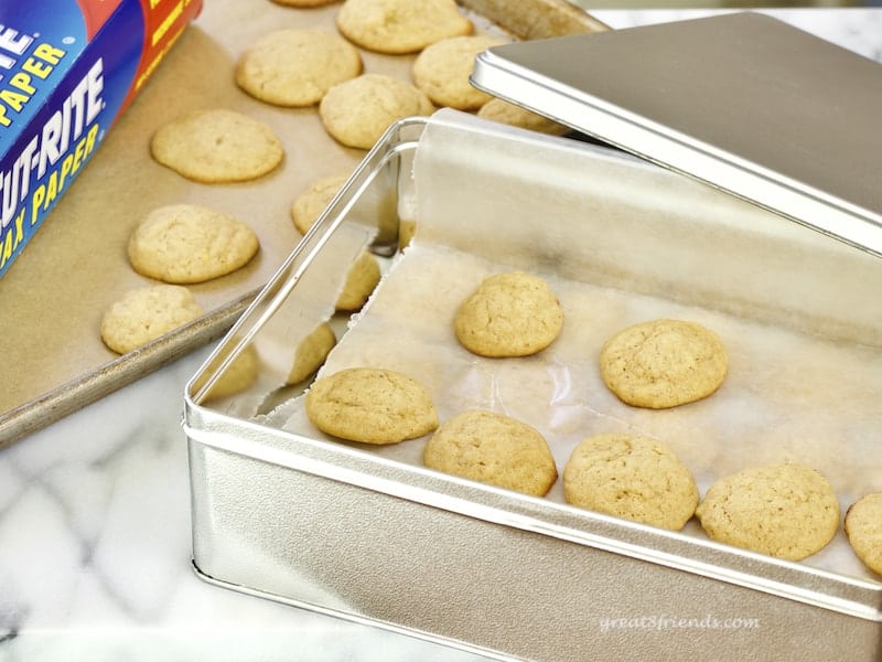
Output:
<path fill-rule="evenodd" d="M 596 169 L 582 159 L 573 169 L 578 154 L 566 142 L 499 141 L 480 122 L 474 132 L 462 130 L 462 118 L 447 127 L 444 116 L 420 140 L 417 199 L 402 201 L 416 212 L 416 239 L 324 371 L 369 365 L 410 374 L 432 393 L 441 420 L 475 407 L 512 415 L 546 436 L 559 472 L 583 437 L 626 431 L 670 445 L 701 493 L 742 468 L 782 461 L 820 470 L 842 514 L 882 489 L 882 337 L 874 303 L 867 301 L 869 311 L 859 305 L 867 299 L 860 285 L 882 276 L 881 260 L 666 171 L 616 168 L 621 157 L 600 157 Z M 680 250 L 689 258 L 678 259 Z M 474 356 L 452 334 L 455 310 L 483 277 L 513 268 L 549 280 L 564 309 L 563 332 L 531 357 Z M 647 410 L 623 405 L 603 385 L 603 342 L 658 317 L 691 319 L 722 337 L 730 374 L 710 398 Z M 340 444 L 310 424 L 302 398 L 266 416 L 255 402 L 225 406 Z M 348 446 L 421 467 L 423 444 Z M 560 481 L 547 499 L 563 502 Z M 684 533 L 707 540 L 695 521 Z M 841 527 L 803 563 L 879 581 Z"/>

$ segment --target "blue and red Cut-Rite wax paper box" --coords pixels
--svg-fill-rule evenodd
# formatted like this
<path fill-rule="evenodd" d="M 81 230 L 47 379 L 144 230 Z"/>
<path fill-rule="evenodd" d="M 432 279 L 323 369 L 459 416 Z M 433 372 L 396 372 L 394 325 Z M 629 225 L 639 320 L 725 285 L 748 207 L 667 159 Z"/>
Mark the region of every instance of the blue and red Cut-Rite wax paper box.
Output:
<path fill-rule="evenodd" d="M 202 0 L 0 4 L 0 276 Z"/>

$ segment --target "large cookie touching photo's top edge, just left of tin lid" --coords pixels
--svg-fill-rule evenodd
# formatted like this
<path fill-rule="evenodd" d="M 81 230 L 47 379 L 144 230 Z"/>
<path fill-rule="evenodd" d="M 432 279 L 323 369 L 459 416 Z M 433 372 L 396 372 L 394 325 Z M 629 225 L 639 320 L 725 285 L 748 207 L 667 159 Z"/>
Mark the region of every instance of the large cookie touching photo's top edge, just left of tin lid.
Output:
<path fill-rule="evenodd" d="M 363 49 L 392 54 L 416 53 L 474 30 L 454 0 L 346 0 L 336 24 Z"/>

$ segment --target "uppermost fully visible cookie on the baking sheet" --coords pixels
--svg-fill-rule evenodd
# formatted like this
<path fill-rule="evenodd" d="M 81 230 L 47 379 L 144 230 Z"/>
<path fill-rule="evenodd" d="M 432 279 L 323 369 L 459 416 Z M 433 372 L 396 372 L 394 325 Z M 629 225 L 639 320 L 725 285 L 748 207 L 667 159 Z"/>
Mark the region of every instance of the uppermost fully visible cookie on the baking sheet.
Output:
<path fill-rule="evenodd" d="M 258 100 L 304 107 L 362 73 L 358 50 L 336 33 L 314 29 L 265 34 L 236 63 L 236 84 Z"/>

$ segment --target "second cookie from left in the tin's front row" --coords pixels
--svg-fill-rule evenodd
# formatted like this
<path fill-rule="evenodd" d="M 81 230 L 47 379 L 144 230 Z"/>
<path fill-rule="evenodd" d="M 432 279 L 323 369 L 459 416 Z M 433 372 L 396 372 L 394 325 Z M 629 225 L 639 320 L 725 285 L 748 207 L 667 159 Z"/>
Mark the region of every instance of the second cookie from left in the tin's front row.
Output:
<path fill-rule="evenodd" d="M 442 423 L 423 465 L 444 473 L 544 496 L 558 477 L 542 435 L 510 416 L 475 409 Z"/>

